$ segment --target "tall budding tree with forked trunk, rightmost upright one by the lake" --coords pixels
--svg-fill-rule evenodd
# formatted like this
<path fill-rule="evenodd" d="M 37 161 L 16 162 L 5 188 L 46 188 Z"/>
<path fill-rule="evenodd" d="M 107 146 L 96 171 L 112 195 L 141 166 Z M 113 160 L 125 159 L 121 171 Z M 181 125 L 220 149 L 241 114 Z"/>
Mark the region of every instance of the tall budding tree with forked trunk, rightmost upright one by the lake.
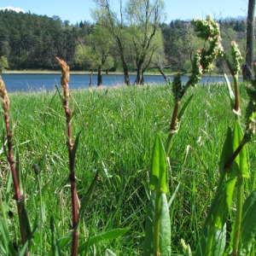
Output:
<path fill-rule="evenodd" d="M 129 0 L 126 3 L 126 20 L 137 66 L 136 84 L 143 84 L 143 73 L 162 44 L 160 21 L 164 17 L 164 8 L 162 0 Z"/>

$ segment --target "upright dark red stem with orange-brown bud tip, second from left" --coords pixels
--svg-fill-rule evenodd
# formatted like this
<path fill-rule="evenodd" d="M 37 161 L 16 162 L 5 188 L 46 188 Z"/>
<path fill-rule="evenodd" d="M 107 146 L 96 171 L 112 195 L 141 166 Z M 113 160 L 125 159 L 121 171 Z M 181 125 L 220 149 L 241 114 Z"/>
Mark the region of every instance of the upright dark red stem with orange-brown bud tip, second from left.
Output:
<path fill-rule="evenodd" d="M 79 210 L 78 210 L 78 196 L 77 196 L 77 185 L 75 181 L 75 171 L 74 171 L 74 159 L 75 155 L 73 153 L 73 141 L 72 141 L 72 111 L 68 107 L 69 102 L 69 90 L 68 90 L 68 81 L 69 81 L 69 67 L 65 61 L 62 61 L 56 57 L 59 61 L 61 67 L 61 85 L 64 91 L 63 97 L 63 108 L 66 114 L 67 122 L 67 149 L 68 149 L 68 159 L 69 159 L 69 182 L 71 185 L 71 199 L 72 199 L 72 213 L 73 213 L 73 240 L 72 240 L 72 256 L 78 255 L 79 249 Z"/>

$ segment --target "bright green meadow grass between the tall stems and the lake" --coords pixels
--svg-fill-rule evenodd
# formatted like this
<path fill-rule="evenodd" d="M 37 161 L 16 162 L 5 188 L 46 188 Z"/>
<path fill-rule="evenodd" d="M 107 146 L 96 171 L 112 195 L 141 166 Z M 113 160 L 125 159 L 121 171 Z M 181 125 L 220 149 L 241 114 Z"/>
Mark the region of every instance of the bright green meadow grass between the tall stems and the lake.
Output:
<path fill-rule="evenodd" d="M 171 153 L 169 198 L 180 183 L 171 208 L 172 253 L 182 252 L 181 239 L 195 250 L 216 189 L 226 127 L 234 119 L 224 84 L 201 85 L 189 90 L 185 97 L 192 93 L 195 96 L 183 116 Z M 45 255 L 51 246 L 50 218 L 54 218 L 57 238 L 67 236 L 72 225 L 66 119 L 55 91 L 14 93 L 9 98 L 26 208 L 32 224 L 40 219 L 35 235 L 35 239 L 40 237 L 40 246 L 33 253 Z M 242 112 L 246 103 L 241 85 Z M 80 227 L 80 242 L 85 237 L 129 227 L 125 236 L 102 241 L 91 247 L 89 254 L 105 255 L 110 249 L 117 255 L 142 255 L 152 148 L 156 133 L 166 138 L 173 108 L 172 89 L 144 85 L 73 90 L 71 104 L 76 112 L 73 135 L 86 124 L 76 158 L 80 200 L 96 171 L 100 173 Z M 250 167 L 254 170 L 255 145 L 250 143 L 248 147 Z M 15 203 L 8 194 L 13 190 L 8 187 L 10 174 L 3 148 L 0 157 L 3 200 L 15 212 Z M 252 173 L 246 183 L 247 193 L 254 187 Z M 10 233 L 16 242 L 17 221 L 16 214 L 14 219 L 9 217 Z M 68 250 L 69 247 L 64 253 L 68 254 Z"/>

